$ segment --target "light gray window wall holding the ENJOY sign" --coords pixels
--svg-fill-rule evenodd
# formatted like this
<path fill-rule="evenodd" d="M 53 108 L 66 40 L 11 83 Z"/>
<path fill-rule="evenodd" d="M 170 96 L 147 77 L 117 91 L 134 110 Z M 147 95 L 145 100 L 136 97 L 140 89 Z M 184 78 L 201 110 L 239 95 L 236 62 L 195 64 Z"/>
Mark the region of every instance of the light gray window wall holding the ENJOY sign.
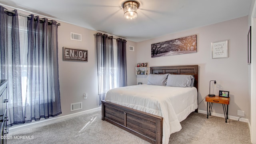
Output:
<path fill-rule="evenodd" d="M 96 31 L 88 30 L 73 24 L 60 22 L 58 27 L 58 56 L 59 56 L 59 79 L 60 79 L 60 100 L 62 114 L 72 114 L 84 110 L 99 107 L 98 98 L 98 77 L 95 53 Z M 82 42 L 70 40 L 70 32 L 82 34 Z M 78 48 L 88 50 L 88 62 L 74 62 L 62 60 L 62 47 Z M 136 76 L 136 51 L 129 51 L 129 46 L 136 48 L 136 43 L 127 41 L 127 84 L 135 85 Z M 136 50 L 136 49 L 135 49 Z M 84 93 L 88 98 L 84 100 Z M 70 104 L 82 102 L 82 110 L 70 111 Z"/>

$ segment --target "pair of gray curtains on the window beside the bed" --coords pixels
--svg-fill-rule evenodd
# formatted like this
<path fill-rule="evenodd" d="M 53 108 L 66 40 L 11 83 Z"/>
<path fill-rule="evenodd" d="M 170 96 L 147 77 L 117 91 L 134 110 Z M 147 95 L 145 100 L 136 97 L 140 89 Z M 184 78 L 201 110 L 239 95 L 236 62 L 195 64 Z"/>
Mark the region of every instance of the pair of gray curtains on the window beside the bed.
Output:
<path fill-rule="evenodd" d="M 96 33 L 99 104 L 112 88 L 127 86 L 126 40 Z"/>

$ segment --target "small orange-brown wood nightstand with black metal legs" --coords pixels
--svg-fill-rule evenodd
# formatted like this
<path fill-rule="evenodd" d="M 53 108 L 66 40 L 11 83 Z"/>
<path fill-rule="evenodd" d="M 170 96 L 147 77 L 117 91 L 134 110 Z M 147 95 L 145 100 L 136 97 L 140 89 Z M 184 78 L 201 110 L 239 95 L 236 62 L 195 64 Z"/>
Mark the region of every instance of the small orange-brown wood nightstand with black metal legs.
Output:
<path fill-rule="evenodd" d="M 207 102 L 207 118 L 209 115 L 211 115 L 212 112 L 212 104 L 213 103 L 219 103 L 222 104 L 223 111 L 224 111 L 224 116 L 225 116 L 225 122 L 227 122 L 228 119 L 228 105 L 230 98 L 225 98 L 221 96 L 214 96 L 214 97 L 209 97 L 206 96 L 205 101 Z M 209 108 L 209 110 L 208 110 Z"/>

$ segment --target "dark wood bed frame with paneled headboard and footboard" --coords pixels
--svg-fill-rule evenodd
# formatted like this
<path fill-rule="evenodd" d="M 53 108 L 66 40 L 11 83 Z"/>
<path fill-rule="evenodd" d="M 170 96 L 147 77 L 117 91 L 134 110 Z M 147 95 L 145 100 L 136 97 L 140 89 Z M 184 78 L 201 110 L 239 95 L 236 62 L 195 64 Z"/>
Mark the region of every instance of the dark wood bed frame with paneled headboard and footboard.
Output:
<path fill-rule="evenodd" d="M 191 74 L 195 78 L 194 87 L 198 90 L 198 65 L 150 67 L 150 74 Z M 160 116 L 102 100 L 102 120 L 152 144 L 162 144 L 163 118 Z"/>

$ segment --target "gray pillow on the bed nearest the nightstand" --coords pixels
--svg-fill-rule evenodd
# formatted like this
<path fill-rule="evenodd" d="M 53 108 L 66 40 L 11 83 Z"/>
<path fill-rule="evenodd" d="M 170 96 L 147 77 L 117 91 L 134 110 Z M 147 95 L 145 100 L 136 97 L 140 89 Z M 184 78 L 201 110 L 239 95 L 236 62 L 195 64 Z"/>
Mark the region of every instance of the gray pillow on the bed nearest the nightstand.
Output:
<path fill-rule="evenodd" d="M 193 87 L 194 79 L 195 78 L 192 75 L 169 74 L 166 81 L 166 86 Z"/>

